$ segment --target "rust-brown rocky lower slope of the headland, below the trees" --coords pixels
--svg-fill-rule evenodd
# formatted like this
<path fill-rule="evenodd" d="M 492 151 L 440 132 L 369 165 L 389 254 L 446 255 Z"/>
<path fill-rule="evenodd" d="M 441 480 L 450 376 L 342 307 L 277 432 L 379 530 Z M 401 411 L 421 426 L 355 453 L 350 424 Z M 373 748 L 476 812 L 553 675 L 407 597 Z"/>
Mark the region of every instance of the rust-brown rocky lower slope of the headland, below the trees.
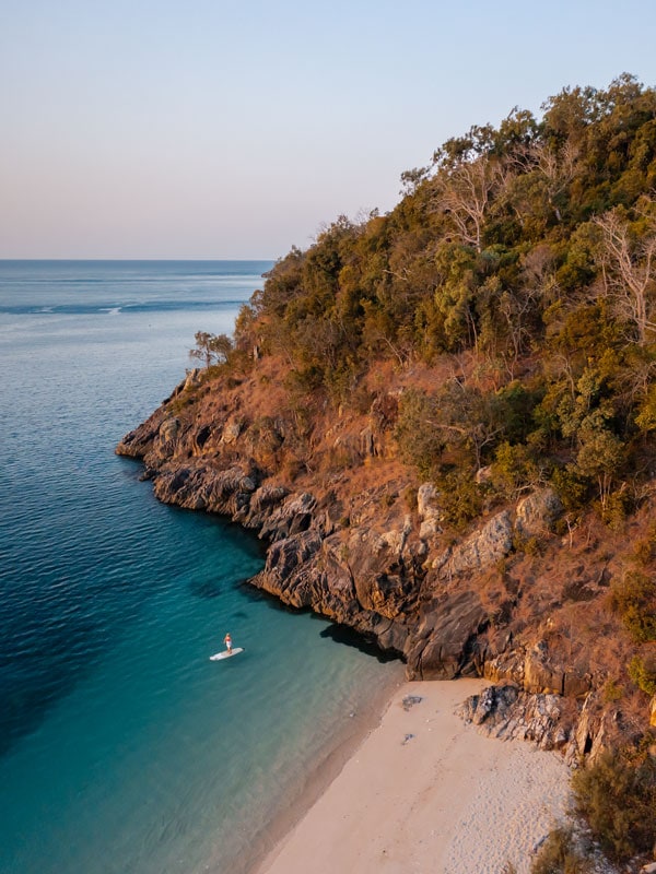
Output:
<path fill-rule="evenodd" d="M 395 377 L 364 413 L 315 411 L 315 469 L 298 472 L 297 423 L 272 366 L 242 379 L 190 371 L 117 452 L 143 461 L 162 501 L 265 540 L 254 586 L 375 640 L 408 678 L 492 681 L 465 714 L 489 733 L 569 761 L 639 736 L 642 700 L 612 695 L 623 643 L 605 605 L 625 559 L 610 532 L 589 521 L 563 535 L 560 498 L 542 487 L 445 533 L 435 486 L 399 461 Z"/>

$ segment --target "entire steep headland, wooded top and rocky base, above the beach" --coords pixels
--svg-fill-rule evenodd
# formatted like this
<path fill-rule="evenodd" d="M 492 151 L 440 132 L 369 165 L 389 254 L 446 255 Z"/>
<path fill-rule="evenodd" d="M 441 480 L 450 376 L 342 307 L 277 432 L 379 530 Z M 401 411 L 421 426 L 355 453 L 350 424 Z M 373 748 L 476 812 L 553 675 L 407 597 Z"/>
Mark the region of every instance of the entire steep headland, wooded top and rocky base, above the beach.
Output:
<path fill-rule="evenodd" d="M 503 731 L 594 760 L 595 834 L 647 852 L 656 91 L 565 88 L 402 184 L 278 261 L 234 339 L 199 332 L 203 368 L 118 451 L 268 539 L 259 588 L 410 677 L 508 684 Z"/>

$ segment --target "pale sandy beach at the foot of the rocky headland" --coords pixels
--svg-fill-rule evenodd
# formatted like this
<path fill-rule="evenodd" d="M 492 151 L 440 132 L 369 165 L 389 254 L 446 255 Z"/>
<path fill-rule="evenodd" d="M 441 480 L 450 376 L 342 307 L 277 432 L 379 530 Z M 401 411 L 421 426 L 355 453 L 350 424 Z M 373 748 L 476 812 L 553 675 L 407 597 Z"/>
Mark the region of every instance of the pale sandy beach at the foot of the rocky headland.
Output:
<path fill-rule="evenodd" d="M 454 710 L 478 680 L 403 683 L 379 724 L 256 874 L 527 874 L 564 815 L 567 768 Z"/>

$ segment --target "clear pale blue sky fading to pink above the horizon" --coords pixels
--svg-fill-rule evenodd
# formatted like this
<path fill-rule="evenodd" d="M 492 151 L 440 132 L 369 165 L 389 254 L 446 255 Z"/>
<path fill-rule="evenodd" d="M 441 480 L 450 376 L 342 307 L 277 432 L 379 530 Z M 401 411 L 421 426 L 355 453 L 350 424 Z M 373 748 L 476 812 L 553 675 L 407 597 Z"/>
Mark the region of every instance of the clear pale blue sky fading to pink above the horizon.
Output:
<path fill-rule="evenodd" d="M 277 258 L 624 71 L 654 0 L 0 0 L 0 258 Z"/>

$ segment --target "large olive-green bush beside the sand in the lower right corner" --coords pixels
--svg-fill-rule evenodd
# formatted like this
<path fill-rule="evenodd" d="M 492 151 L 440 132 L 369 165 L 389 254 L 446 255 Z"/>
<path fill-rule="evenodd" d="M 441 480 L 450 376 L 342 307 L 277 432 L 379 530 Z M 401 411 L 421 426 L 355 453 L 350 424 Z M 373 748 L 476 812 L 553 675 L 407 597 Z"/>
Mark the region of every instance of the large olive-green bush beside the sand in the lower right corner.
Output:
<path fill-rule="evenodd" d="M 651 851 L 656 840 L 656 761 L 630 761 L 619 753 L 576 771 L 577 812 L 601 847 L 618 861 Z"/>

